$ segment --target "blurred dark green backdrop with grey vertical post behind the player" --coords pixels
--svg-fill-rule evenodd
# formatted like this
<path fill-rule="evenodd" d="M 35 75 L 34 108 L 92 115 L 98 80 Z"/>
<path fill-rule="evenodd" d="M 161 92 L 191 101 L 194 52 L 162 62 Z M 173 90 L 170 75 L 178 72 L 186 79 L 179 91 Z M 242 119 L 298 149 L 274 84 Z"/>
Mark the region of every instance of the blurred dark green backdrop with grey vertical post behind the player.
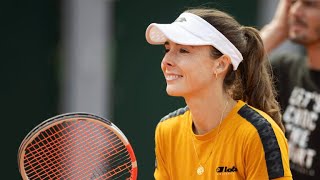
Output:
<path fill-rule="evenodd" d="M 1 5 L 1 171 L 21 179 L 17 153 L 37 124 L 66 112 L 113 121 L 128 137 L 139 179 L 153 179 L 154 130 L 185 106 L 168 97 L 163 47 L 145 40 L 151 22 L 188 7 L 215 7 L 261 28 L 278 0 L 7 0 Z M 290 43 L 280 48 L 290 47 Z"/>

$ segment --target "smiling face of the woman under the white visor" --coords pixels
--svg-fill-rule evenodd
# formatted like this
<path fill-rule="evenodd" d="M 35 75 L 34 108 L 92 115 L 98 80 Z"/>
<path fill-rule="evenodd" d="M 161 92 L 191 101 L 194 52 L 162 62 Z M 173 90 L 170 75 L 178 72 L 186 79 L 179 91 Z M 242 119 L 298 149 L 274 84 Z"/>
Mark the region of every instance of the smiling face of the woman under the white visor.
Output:
<path fill-rule="evenodd" d="M 211 46 L 186 46 L 172 41 L 165 43 L 161 69 L 171 96 L 190 96 L 210 90 L 215 79 L 215 60 Z"/>

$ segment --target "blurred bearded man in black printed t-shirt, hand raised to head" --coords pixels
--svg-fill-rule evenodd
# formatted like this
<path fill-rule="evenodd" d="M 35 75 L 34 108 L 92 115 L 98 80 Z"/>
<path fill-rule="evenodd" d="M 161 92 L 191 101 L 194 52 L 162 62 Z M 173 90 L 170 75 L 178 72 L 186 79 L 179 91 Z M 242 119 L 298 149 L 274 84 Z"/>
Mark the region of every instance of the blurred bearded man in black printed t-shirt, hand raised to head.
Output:
<path fill-rule="evenodd" d="M 271 52 L 287 38 L 306 55 L 284 52 L 271 59 L 295 180 L 320 177 L 320 0 L 280 0 L 261 30 Z"/>

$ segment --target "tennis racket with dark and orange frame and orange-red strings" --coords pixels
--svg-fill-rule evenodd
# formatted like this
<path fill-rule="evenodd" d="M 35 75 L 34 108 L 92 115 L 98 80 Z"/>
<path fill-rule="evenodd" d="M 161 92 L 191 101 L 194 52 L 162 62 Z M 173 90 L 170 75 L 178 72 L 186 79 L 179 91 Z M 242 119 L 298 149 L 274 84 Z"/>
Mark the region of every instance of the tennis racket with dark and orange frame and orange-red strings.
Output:
<path fill-rule="evenodd" d="M 18 165 L 24 180 L 137 179 L 129 141 L 112 122 L 68 113 L 36 126 L 22 141 Z"/>

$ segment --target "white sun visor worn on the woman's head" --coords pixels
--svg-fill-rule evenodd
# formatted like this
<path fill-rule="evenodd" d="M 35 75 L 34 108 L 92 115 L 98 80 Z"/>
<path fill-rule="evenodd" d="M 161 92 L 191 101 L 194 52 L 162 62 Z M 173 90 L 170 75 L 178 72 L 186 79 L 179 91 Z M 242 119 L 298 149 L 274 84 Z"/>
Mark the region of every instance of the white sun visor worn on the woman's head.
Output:
<path fill-rule="evenodd" d="M 150 24 L 146 30 L 146 39 L 150 44 L 164 44 L 169 39 L 182 45 L 211 45 L 230 56 L 233 70 L 243 60 L 239 50 L 222 33 L 192 13 L 182 13 L 171 24 Z"/>

